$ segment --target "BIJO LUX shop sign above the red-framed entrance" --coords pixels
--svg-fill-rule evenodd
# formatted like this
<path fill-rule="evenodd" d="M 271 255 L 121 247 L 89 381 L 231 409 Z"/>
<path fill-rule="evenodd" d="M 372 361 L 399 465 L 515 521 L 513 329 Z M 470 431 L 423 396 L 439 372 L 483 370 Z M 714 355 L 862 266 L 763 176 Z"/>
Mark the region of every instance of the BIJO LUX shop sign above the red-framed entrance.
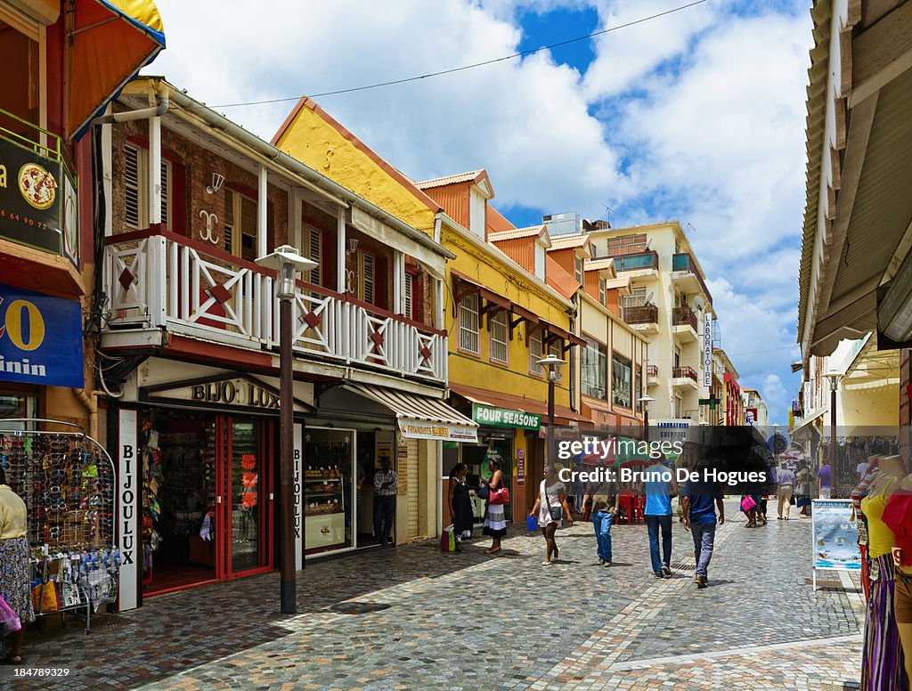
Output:
<path fill-rule="evenodd" d="M 254 376 L 210 376 L 204 379 L 144 387 L 140 400 L 149 403 L 177 403 L 184 406 L 244 409 L 255 412 L 279 410 L 278 389 Z M 295 398 L 295 412 L 312 413 L 314 409 Z"/>

